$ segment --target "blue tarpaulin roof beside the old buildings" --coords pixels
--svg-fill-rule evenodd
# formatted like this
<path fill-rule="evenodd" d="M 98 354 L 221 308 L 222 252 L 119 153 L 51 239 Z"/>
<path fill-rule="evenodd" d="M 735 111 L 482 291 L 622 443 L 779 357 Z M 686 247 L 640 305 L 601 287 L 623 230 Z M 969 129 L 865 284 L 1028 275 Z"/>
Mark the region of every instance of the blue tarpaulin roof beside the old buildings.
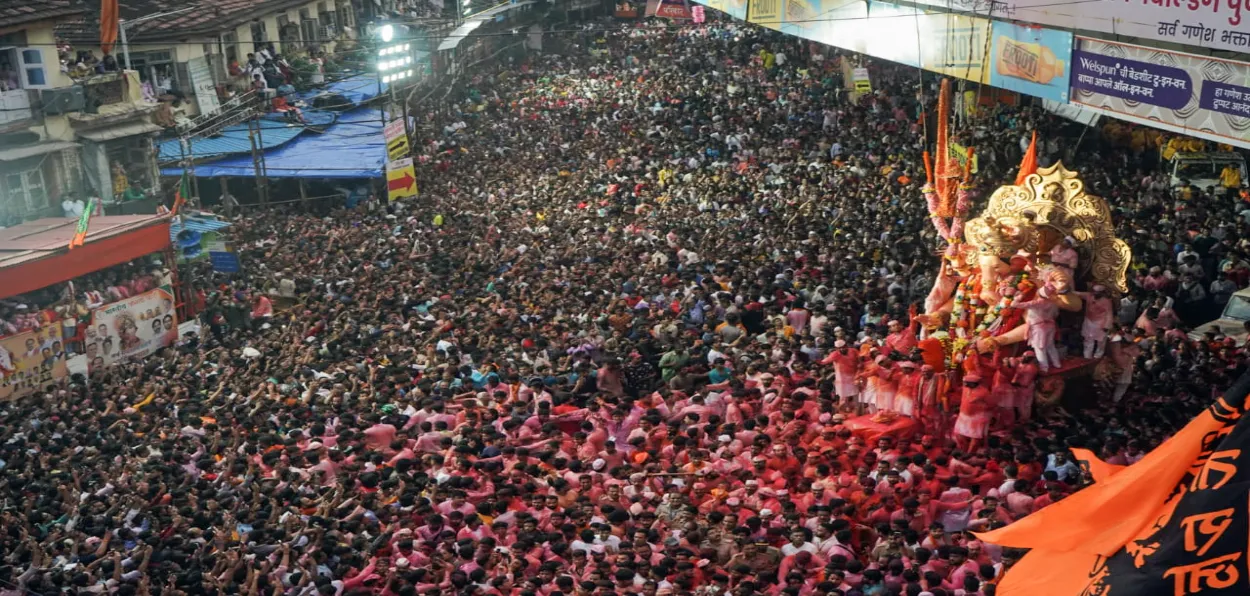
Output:
<path fill-rule="evenodd" d="M 265 151 L 265 172 L 270 177 L 381 177 L 386 165 L 378 110 L 359 107 L 344 112 L 321 135 L 302 135 L 280 147 Z M 181 176 L 181 167 L 161 170 L 164 176 Z M 198 177 L 255 176 L 251 155 L 228 157 L 195 166 Z"/>

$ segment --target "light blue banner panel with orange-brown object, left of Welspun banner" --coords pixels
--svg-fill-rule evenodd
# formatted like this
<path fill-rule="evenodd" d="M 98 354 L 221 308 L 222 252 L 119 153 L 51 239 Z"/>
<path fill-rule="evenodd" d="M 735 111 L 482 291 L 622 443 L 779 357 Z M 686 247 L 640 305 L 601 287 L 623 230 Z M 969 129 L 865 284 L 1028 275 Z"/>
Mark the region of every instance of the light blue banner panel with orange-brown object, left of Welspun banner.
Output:
<path fill-rule="evenodd" d="M 995 21 L 990 35 L 990 85 L 1068 101 L 1072 34 Z"/>

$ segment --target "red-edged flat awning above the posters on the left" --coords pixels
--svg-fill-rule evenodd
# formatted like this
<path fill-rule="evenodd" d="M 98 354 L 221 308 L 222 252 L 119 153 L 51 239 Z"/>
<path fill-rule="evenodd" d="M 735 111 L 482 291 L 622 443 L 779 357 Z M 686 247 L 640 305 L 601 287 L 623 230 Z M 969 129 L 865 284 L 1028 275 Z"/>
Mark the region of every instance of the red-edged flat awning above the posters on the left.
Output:
<path fill-rule="evenodd" d="M 0 230 L 0 299 L 72 280 L 165 250 L 168 215 L 91 217 L 86 244 L 69 250 L 75 217 L 45 217 Z"/>

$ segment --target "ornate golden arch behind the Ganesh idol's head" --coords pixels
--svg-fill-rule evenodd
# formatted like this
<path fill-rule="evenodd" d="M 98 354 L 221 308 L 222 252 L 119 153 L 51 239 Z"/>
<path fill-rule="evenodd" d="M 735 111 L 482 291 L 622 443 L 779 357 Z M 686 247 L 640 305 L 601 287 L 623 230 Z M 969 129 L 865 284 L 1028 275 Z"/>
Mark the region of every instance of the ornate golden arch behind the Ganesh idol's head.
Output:
<path fill-rule="evenodd" d="M 1022 250 L 1032 254 L 1050 250 L 1059 237 L 1074 237 L 1082 257 L 1078 277 L 1129 291 L 1126 274 L 1132 251 L 1115 236 L 1111 209 L 1102 197 L 1085 192 L 1085 182 L 1062 162 L 1029 175 L 1024 185 L 995 190 L 985 211 L 968 222 L 965 237 L 974 246 L 994 244 L 994 239 L 982 236 L 995 227 L 994 222 L 1006 221 L 1025 222 L 1020 227 L 1031 224 L 1034 230 L 1021 234 L 1020 241 Z"/>

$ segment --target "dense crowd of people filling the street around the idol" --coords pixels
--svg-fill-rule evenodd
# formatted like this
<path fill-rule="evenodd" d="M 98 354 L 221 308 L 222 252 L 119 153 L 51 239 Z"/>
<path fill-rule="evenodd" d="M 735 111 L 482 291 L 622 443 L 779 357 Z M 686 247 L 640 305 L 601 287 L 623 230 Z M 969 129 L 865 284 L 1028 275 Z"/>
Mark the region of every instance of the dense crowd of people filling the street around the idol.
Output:
<path fill-rule="evenodd" d="M 0 594 L 989 596 L 1020 552 L 970 532 L 1242 366 L 1185 329 L 1250 277 L 1244 207 L 986 109 L 984 189 L 1036 129 L 1115 210 L 1108 359 L 1139 390 L 971 451 L 865 444 L 829 356 L 894 352 L 932 285 L 936 80 L 874 62 L 856 96 L 848 56 L 722 22 L 569 47 L 430 110 L 419 199 L 238 221 L 202 336 L 0 405 Z"/>

